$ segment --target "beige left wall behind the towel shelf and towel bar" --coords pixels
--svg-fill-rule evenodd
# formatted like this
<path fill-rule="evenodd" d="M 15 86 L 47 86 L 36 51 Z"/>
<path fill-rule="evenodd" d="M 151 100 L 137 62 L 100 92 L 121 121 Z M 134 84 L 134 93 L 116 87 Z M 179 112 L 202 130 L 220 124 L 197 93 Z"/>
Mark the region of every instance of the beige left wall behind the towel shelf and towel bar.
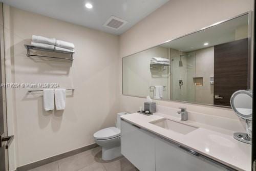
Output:
<path fill-rule="evenodd" d="M 53 18 L 4 7 L 7 81 L 60 83 L 67 92 L 64 111 L 45 112 L 42 92 L 8 89 L 11 167 L 58 155 L 94 143 L 93 134 L 114 126 L 118 112 L 118 36 Z M 28 58 L 24 44 L 32 34 L 71 41 L 74 61 Z M 15 151 L 14 151 L 15 148 Z"/>

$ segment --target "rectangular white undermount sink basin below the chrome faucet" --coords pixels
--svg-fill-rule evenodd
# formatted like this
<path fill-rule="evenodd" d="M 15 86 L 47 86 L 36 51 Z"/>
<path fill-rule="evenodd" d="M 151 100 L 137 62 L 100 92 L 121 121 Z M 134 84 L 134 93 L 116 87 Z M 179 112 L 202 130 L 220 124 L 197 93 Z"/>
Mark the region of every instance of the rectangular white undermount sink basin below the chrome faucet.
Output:
<path fill-rule="evenodd" d="M 186 125 L 186 124 L 183 124 L 180 122 L 176 122 L 173 120 L 169 120 L 169 119 L 161 119 L 161 120 L 153 121 L 150 123 L 160 126 L 166 130 L 172 130 L 172 131 L 175 131 L 175 132 L 183 134 L 183 135 L 188 134 L 188 133 L 198 129 L 198 127 L 189 126 L 189 125 Z"/>

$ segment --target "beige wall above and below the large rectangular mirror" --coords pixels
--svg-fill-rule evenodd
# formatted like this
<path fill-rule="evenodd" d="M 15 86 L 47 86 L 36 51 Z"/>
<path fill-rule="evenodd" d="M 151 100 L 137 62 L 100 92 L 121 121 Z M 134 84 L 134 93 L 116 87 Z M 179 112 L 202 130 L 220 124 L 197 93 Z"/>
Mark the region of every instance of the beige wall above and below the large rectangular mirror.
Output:
<path fill-rule="evenodd" d="M 221 20 L 253 10 L 253 0 L 172 0 L 120 36 L 120 57 L 154 47 Z M 121 62 L 120 62 L 121 66 Z M 120 79 L 121 88 L 121 79 Z M 121 94 L 121 91 L 120 91 Z M 145 99 L 120 96 L 120 110 L 134 112 Z M 237 119 L 229 109 L 180 102 L 156 101 L 165 106 L 185 106 L 190 111 Z"/>

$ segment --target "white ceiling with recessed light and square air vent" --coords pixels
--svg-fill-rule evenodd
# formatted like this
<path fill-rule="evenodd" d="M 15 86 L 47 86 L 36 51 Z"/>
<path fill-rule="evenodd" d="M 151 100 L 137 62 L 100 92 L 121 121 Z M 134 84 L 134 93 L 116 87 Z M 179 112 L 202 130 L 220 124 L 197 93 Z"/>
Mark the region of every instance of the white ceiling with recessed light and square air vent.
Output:
<path fill-rule="evenodd" d="M 10 6 L 64 20 L 77 25 L 122 34 L 169 0 L 0 0 Z M 84 7 L 86 3 L 92 9 Z M 102 25 L 111 15 L 128 23 L 118 30 Z"/>

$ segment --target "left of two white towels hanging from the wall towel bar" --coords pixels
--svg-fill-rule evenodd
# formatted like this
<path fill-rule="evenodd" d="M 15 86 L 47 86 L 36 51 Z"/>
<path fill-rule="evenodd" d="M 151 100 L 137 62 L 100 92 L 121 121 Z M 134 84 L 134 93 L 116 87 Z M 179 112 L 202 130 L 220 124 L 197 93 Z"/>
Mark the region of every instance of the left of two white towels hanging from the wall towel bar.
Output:
<path fill-rule="evenodd" d="M 53 89 L 44 90 L 44 107 L 46 111 L 54 110 L 54 91 Z"/>

